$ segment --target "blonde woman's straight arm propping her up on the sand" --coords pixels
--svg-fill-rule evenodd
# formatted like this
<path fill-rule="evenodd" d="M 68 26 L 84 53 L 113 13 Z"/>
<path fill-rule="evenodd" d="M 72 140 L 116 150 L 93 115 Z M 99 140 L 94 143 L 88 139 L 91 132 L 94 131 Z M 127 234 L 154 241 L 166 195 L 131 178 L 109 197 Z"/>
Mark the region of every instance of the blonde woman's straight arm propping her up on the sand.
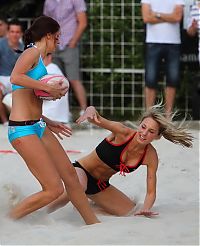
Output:
<path fill-rule="evenodd" d="M 144 215 L 147 217 L 158 214 L 150 211 L 156 199 L 156 172 L 158 168 L 158 157 L 154 149 L 150 154 L 150 159 L 151 161 L 147 165 L 147 192 L 144 204 L 142 208 L 135 213 L 135 215 Z"/>

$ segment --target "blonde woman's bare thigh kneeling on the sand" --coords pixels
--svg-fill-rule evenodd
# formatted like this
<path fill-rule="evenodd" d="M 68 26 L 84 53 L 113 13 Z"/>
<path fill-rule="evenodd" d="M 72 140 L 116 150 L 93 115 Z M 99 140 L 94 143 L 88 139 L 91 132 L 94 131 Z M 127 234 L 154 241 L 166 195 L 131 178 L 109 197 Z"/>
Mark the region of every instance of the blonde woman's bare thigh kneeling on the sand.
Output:
<path fill-rule="evenodd" d="M 117 216 L 127 215 L 135 206 L 130 198 L 112 185 L 88 197 L 106 212 Z"/>

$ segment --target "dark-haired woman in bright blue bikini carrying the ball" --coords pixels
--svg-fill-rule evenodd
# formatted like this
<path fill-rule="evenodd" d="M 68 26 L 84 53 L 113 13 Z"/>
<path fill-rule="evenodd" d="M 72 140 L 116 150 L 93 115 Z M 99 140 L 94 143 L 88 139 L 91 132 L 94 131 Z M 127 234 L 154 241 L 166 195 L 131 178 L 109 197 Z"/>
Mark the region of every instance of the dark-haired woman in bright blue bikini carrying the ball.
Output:
<path fill-rule="evenodd" d="M 38 17 L 24 35 L 25 47 L 31 45 L 21 54 L 11 74 L 13 105 L 9 141 L 42 189 L 21 201 L 9 215 L 19 219 L 30 214 L 54 201 L 66 189 L 86 224 L 93 224 L 98 219 L 88 204 L 75 169 L 53 134 L 62 139 L 61 134 L 70 136 L 71 129 L 42 116 L 42 100 L 34 94 L 34 89 L 43 90 L 59 99 L 67 92 L 61 83 L 48 85 L 38 81 L 47 74 L 42 59 L 56 49 L 59 36 L 60 26 L 54 19 Z"/>

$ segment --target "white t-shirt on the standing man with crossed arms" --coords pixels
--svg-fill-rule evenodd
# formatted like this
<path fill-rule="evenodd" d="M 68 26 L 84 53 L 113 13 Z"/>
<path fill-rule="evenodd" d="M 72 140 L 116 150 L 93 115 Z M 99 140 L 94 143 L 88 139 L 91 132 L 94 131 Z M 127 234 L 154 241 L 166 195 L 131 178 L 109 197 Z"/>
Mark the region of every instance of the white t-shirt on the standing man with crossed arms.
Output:
<path fill-rule="evenodd" d="M 142 0 L 141 3 L 150 4 L 154 12 L 170 14 L 176 5 L 185 5 L 184 0 Z M 180 44 L 180 23 L 147 23 L 146 42 Z"/>

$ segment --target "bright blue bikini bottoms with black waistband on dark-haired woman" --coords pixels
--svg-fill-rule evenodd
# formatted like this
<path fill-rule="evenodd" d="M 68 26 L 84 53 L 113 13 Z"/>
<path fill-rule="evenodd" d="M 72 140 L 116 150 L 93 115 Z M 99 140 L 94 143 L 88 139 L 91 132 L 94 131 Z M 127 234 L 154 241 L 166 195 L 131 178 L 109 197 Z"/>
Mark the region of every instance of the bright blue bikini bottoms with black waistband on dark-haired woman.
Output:
<path fill-rule="evenodd" d="M 12 124 L 10 124 L 10 122 L 8 126 L 8 139 L 10 143 L 17 138 L 29 135 L 37 135 L 39 138 L 41 138 L 46 128 L 46 123 L 43 121 L 43 119 L 23 122 L 12 121 Z M 28 124 L 26 125 L 27 122 Z M 15 123 L 16 125 L 14 125 Z"/>

